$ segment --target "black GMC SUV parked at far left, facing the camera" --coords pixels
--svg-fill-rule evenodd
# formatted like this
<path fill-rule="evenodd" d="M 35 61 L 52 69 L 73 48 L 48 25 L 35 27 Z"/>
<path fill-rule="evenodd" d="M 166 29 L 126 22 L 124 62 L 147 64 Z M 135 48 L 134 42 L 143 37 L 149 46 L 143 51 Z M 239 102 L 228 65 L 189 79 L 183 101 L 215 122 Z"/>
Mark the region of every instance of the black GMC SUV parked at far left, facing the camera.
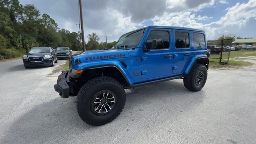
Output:
<path fill-rule="evenodd" d="M 55 51 L 51 47 L 32 47 L 22 58 L 25 68 L 34 66 L 54 66 L 58 62 Z"/>

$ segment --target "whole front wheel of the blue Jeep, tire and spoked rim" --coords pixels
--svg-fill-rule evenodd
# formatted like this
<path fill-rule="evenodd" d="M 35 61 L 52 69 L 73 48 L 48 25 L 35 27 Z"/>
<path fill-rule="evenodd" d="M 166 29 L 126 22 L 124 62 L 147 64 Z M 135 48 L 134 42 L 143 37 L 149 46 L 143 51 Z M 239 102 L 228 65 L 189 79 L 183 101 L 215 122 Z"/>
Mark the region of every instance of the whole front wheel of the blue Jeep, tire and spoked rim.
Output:
<path fill-rule="evenodd" d="M 87 124 L 100 126 L 114 120 L 124 108 L 123 86 L 110 77 L 89 80 L 78 92 L 76 108 Z"/>

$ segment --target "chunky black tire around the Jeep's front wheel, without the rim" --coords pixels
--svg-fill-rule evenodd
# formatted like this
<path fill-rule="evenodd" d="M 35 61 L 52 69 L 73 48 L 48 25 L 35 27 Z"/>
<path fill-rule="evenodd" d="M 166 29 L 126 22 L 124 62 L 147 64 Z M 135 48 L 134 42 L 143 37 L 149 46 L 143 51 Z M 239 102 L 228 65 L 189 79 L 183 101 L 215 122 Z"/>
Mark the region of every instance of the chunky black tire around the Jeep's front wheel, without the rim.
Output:
<path fill-rule="evenodd" d="M 98 116 L 91 107 L 94 95 L 102 90 L 110 90 L 116 95 L 116 105 L 110 113 Z M 126 96 L 123 86 L 114 78 L 102 76 L 86 82 L 78 92 L 76 108 L 80 118 L 87 124 L 100 126 L 114 120 L 123 110 Z"/>

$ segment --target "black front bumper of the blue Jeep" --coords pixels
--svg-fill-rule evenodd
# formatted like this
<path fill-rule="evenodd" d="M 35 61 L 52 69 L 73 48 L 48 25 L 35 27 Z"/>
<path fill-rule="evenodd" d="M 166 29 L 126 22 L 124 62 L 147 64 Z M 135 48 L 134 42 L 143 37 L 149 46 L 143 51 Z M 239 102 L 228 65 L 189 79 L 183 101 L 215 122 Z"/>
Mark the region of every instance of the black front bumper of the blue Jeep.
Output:
<path fill-rule="evenodd" d="M 62 74 L 58 76 L 57 84 L 54 85 L 54 90 L 59 93 L 60 97 L 68 98 L 70 88 L 67 83 L 68 70 L 63 71 Z"/>

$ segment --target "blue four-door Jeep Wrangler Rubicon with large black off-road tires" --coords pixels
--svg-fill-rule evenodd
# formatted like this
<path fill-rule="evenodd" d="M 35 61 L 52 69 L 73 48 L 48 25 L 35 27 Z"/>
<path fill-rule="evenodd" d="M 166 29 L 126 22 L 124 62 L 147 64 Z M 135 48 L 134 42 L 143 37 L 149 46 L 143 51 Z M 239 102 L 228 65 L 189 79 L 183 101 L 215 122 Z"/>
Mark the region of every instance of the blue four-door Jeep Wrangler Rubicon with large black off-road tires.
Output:
<path fill-rule="evenodd" d="M 209 60 L 203 30 L 148 26 L 122 35 L 110 50 L 72 56 L 54 89 L 77 96 L 84 122 L 103 125 L 124 108 L 124 89 L 182 78 L 191 91 L 204 87 Z"/>

